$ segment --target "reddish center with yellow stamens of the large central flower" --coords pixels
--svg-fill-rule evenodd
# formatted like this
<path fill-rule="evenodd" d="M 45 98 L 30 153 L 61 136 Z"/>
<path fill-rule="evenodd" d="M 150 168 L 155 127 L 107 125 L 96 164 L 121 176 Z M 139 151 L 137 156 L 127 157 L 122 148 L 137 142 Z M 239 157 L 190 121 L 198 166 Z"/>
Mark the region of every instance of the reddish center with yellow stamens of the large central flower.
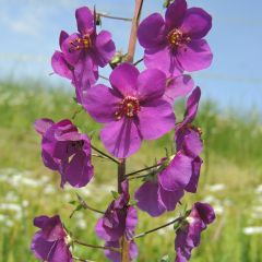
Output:
<path fill-rule="evenodd" d="M 123 116 L 132 118 L 136 116 L 140 111 L 140 103 L 136 97 L 127 96 L 123 100 L 119 103 L 119 107 L 115 112 L 117 120 L 120 120 Z"/>

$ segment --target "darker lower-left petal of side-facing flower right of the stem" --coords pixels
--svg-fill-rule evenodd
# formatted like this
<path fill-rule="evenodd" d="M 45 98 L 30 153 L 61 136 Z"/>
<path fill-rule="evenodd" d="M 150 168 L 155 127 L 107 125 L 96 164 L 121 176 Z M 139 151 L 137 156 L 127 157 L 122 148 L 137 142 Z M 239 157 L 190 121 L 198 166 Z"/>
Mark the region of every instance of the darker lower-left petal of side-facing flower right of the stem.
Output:
<path fill-rule="evenodd" d="M 151 216 L 162 215 L 166 210 L 158 198 L 158 184 L 153 181 L 145 181 L 134 193 L 136 205 L 140 210 L 147 212 Z"/>

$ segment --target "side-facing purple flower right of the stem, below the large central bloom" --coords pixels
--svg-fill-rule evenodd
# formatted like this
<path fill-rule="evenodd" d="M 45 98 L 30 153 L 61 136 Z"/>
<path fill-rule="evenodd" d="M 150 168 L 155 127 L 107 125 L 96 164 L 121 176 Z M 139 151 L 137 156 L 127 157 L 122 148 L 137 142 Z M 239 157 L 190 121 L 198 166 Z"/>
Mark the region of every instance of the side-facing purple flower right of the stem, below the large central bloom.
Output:
<path fill-rule="evenodd" d="M 157 177 L 146 180 L 134 194 L 139 209 L 151 216 L 174 211 L 192 175 L 192 158 L 181 152 L 162 163 Z"/>

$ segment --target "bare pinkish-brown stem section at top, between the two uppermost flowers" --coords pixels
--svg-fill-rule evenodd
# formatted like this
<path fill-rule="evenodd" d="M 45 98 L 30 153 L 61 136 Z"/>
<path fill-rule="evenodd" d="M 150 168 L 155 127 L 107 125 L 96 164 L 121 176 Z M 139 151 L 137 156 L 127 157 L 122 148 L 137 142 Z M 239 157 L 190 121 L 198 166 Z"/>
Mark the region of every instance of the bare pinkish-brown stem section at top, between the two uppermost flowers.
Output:
<path fill-rule="evenodd" d="M 141 15 L 141 11 L 142 11 L 143 1 L 144 0 L 135 0 L 134 15 L 133 15 L 133 19 L 132 19 L 132 27 L 131 27 L 130 38 L 129 38 L 128 55 L 127 55 L 127 58 L 126 58 L 126 60 L 128 62 L 133 62 L 136 38 L 138 38 L 136 37 L 138 27 L 139 27 L 139 22 L 140 22 L 140 15 Z"/>

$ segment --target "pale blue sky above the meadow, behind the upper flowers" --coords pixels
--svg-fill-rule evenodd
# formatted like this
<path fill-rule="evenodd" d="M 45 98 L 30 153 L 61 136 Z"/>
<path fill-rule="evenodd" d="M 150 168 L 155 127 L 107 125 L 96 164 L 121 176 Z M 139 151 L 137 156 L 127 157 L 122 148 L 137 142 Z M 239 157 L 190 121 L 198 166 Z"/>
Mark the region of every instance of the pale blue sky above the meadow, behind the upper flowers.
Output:
<path fill-rule="evenodd" d="M 144 0 L 142 17 L 164 12 L 163 0 Z M 221 107 L 262 110 L 262 1 L 189 0 L 213 15 L 207 40 L 214 52 L 210 69 L 194 73 L 203 96 Z M 0 80 L 34 78 L 68 85 L 52 71 L 50 57 L 58 49 L 61 29 L 75 32 L 74 9 L 96 4 L 99 12 L 131 17 L 134 0 L 0 0 Z M 130 24 L 103 20 L 118 49 L 127 50 Z M 136 58 L 142 57 L 138 48 Z M 108 75 L 109 70 L 103 70 Z"/>

